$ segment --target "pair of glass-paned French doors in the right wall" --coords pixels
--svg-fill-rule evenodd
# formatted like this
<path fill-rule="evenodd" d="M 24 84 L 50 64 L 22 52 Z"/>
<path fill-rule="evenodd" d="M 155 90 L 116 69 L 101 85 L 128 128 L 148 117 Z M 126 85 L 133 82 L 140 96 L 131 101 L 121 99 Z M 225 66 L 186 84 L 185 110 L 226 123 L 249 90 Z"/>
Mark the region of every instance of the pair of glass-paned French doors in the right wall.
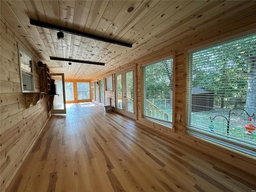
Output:
<path fill-rule="evenodd" d="M 135 67 L 118 72 L 116 78 L 116 112 L 136 119 Z"/>

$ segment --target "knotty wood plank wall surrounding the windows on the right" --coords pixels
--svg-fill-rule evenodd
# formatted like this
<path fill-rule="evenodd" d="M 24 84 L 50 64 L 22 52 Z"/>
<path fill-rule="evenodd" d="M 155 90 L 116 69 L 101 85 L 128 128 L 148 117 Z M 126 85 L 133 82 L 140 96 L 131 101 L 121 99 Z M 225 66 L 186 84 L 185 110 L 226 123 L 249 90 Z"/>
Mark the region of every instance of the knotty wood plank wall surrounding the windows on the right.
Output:
<path fill-rule="evenodd" d="M 162 132 L 169 136 L 170 138 L 174 138 L 176 140 L 180 140 L 198 150 L 203 151 L 205 154 L 209 156 L 214 156 L 236 166 L 242 170 L 245 170 L 251 174 L 256 175 L 256 158 L 252 156 L 248 156 L 246 154 L 236 152 L 234 150 L 224 148 L 217 144 L 213 144 L 210 142 L 206 142 L 204 140 L 198 139 L 196 137 L 190 136 L 186 134 L 186 50 L 189 48 L 194 48 L 198 46 L 203 46 L 208 43 L 215 42 L 217 40 L 221 40 L 223 38 L 228 38 L 230 36 L 243 36 L 242 34 L 247 34 L 248 30 L 254 31 L 256 29 L 256 23 L 248 21 L 255 20 L 255 14 L 249 17 L 245 17 L 240 20 L 232 20 L 229 26 L 220 26 L 215 29 L 212 26 L 209 26 L 209 29 L 197 32 L 196 34 L 190 35 L 185 39 L 178 40 L 175 43 L 167 45 L 165 47 L 158 47 L 156 50 L 148 50 L 148 54 L 143 56 L 142 58 L 135 60 L 134 62 L 130 62 L 125 64 L 122 67 L 116 68 L 111 72 L 104 74 L 104 77 L 109 75 L 113 75 L 113 81 L 115 85 L 114 73 L 120 72 L 122 70 L 131 68 L 136 66 L 137 77 L 136 77 L 136 91 L 137 91 L 137 122 L 143 124 L 146 128 L 152 128 L 159 132 Z M 242 34 L 241 34 L 242 33 Z M 159 46 L 159 45 L 158 45 Z M 165 126 L 161 126 L 154 122 L 150 122 L 145 118 L 142 118 L 142 89 L 141 89 L 141 68 L 143 64 L 150 63 L 152 61 L 159 60 L 161 58 L 166 58 L 166 56 L 173 56 L 176 60 L 175 62 L 175 120 L 174 127 L 172 129 L 166 128 Z M 98 77 L 102 78 L 102 77 Z M 113 88 L 114 88 L 113 85 Z M 138 91 L 140 90 L 140 91 Z M 115 92 L 105 92 L 106 96 L 111 96 L 112 104 L 115 102 Z M 181 120 L 177 120 L 177 114 L 181 115 Z"/>

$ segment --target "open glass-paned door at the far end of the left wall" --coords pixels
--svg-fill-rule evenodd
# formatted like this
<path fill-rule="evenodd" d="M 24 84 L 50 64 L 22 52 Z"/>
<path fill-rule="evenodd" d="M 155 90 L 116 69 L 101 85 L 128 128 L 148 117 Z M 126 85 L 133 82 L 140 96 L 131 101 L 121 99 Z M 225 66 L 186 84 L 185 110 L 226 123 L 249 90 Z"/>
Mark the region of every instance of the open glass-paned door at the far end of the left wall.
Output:
<path fill-rule="evenodd" d="M 66 114 L 66 96 L 64 73 L 52 73 L 50 79 L 54 79 L 56 84 L 56 94 L 53 99 L 52 114 Z"/>

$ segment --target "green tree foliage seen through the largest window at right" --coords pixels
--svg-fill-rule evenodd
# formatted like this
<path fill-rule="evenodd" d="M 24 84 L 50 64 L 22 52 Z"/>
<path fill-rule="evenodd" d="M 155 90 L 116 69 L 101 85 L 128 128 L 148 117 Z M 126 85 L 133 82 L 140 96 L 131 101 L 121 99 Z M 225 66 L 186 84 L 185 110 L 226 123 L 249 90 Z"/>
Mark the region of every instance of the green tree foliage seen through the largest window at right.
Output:
<path fill-rule="evenodd" d="M 214 99 L 244 98 L 248 112 L 256 113 L 256 35 L 213 46 L 189 56 L 192 86 L 214 91 Z"/>

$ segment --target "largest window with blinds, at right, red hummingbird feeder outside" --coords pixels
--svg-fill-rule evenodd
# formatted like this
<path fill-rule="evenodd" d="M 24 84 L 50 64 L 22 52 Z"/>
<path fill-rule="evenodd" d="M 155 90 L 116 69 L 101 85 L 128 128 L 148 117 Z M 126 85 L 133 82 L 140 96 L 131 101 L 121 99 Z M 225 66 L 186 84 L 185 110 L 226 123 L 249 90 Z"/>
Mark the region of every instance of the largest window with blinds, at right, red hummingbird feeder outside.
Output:
<path fill-rule="evenodd" d="M 256 34 L 188 53 L 187 130 L 256 155 Z"/>

